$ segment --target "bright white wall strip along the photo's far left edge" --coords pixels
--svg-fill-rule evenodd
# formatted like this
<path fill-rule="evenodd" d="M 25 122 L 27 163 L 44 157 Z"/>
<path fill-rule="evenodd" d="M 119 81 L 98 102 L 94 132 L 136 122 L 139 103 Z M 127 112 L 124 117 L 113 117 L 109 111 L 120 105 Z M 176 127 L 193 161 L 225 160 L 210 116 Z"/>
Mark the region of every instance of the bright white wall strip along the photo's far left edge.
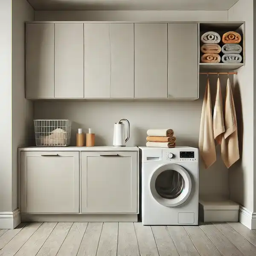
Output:
<path fill-rule="evenodd" d="M 12 1 L 0 1 L 0 212 L 12 211 Z"/>

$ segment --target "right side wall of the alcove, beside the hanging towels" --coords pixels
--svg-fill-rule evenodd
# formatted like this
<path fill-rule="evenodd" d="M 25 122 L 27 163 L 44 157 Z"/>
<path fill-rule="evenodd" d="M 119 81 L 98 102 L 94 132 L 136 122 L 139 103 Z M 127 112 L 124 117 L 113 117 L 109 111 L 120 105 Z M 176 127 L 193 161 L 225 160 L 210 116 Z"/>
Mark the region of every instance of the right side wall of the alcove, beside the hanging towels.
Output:
<path fill-rule="evenodd" d="M 251 212 L 256 210 L 253 198 L 255 178 L 253 151 L 253 0 L 239 0 L 228 11 L 229 21 L 245 21 L 245 67 L 235 76 L 235 100 L 239 125 L 241 161 L 230 171 L 230 195 Z M 253 203 L 254 201 L 254 203 Z"/>

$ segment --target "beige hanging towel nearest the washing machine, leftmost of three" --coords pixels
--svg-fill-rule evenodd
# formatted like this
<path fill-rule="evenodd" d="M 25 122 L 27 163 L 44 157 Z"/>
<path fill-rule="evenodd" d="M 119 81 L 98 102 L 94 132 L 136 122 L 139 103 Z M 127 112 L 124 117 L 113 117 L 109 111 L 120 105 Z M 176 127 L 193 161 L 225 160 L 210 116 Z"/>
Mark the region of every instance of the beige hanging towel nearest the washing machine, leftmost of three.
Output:
<path fill-rule="evenodd" d="M 204 161 L 205 168 L 208 168 L 216 161 L 216 151 L 212 127 L 212 106 L 209 79 L 204 93 L 204 102 L 202 107 L 200 133 L 199 133 L 199 151 Z"/>

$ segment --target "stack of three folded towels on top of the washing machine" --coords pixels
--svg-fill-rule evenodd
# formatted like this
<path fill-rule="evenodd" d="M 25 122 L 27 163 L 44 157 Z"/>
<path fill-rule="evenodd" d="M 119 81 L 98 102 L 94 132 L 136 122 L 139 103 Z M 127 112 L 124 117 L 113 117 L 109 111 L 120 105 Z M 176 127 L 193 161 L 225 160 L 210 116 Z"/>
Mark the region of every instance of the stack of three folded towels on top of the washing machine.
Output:
<path fill-rule="evenodd" d="M 150 129 L 147 131 L 147 147 L 175 148 L 176 137 L 172 129 Z"/>

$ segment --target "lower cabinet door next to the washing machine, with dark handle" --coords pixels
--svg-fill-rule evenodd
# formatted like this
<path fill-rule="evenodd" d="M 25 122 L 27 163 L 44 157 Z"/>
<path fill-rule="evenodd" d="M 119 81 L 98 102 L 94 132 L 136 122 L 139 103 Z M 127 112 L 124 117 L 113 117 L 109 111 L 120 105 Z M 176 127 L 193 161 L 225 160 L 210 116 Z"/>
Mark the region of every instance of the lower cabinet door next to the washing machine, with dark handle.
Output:
<path fill-rule="evenodd" d="M 82 213 L 137 213 L 137 152 L 81 153 Z"/>

